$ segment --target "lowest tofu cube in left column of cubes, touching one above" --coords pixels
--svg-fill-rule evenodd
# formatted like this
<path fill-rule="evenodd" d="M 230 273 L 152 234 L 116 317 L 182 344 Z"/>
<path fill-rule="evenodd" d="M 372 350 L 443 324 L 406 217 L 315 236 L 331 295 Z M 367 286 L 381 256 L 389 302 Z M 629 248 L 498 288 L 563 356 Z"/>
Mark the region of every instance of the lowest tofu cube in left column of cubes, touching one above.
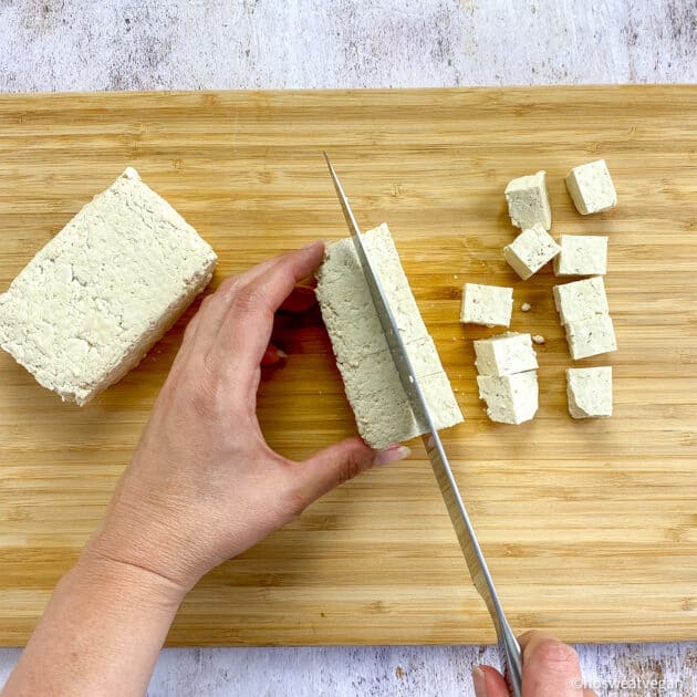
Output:
<path fill-rule="evenodd" d="M 538 410 L 538 373 L 478 375 L 479 398 L 487 403 L 487 416 L 501 424 L 522 424 Z"/>

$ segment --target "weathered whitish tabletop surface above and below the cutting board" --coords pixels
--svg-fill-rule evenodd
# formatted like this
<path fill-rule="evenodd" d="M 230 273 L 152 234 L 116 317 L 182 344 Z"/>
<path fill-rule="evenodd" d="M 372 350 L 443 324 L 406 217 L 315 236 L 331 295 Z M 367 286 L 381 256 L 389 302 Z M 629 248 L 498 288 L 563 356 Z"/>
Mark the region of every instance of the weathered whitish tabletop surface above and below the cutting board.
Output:
<path fill-rule="evenodd" d="M 0 28 L 6 93 L 697 82 L 697 0 L 0 0 Z M 578 648 L 599 694 L 697 695 L 697 643 Z M 0 685 L 18 655 L 0 649 Z M 459 697 L 481 662 L 496 653 L 166 649 L 148 694 Z"/>

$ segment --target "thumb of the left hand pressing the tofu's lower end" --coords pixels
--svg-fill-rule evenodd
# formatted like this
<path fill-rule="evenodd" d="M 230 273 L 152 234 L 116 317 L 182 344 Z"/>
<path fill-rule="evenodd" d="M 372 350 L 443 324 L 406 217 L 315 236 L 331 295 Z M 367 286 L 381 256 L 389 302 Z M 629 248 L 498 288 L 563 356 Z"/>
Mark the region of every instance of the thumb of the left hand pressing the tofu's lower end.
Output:
<path fill-rule="evenodd" d="M 408 457 L 409 448 L 393 445 L 373 450 L 361 438 L 347 438 L 315 452 L 302 462 L 303 498 L 310 504 L 339 485 L 353 479 L 374 465 L 387 465 Z"/>

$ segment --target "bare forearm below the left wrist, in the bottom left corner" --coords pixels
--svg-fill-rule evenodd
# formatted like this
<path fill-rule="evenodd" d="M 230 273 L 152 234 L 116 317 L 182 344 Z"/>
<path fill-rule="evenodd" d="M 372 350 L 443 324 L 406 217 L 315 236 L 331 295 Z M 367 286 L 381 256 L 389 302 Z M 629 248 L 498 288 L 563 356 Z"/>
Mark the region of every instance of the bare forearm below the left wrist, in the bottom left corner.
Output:
<path fill-rule="evenodd" d="M 145 694 L 181 596 L 166 579 L 87 549 L 56 586 L 3 697 Z"/>

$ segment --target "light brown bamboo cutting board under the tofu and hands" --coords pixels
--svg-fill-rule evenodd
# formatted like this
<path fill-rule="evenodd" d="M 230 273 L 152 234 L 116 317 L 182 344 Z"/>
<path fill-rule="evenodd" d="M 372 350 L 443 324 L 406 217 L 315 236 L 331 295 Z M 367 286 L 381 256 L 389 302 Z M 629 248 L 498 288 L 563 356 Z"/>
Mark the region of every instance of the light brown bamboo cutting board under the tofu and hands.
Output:
<path fill-rule="evenodd" d="M 0 289 L 135 166 L 220 257 L 214 287 L 272 253 L 346 236 L 326 148 L 358 222 L 387 221 L 465 424 L 444 434 L 516 631 L 571 641 L 697 635 L 697 89 L 606 87 L 6 96 Z M 620 204 L 582 218 L 570 167 L 605 157 Z M 553 232 L 606 233 L 620 351 L 615 415 L 573 422 L 549 269 L 520 281 L 503 188 L 547 169 Z M 492 424 L 477 398 L 465 281 L 516 288 L 542 334 L 540 410 Z M 527 301 L 532 310 L 522 313 Z M 194 309 L 193 309 L 194 310 Z M 0 355 L 0 644 L 25 642 L 100 520 L 193 310 L 96 399 L 61 404 Z M 279 327 L 269 443 L 302 458 L 354 433 L 316 311 Z M 419 443 L 205 578 L 169 643 L 490 642 Z"/>

